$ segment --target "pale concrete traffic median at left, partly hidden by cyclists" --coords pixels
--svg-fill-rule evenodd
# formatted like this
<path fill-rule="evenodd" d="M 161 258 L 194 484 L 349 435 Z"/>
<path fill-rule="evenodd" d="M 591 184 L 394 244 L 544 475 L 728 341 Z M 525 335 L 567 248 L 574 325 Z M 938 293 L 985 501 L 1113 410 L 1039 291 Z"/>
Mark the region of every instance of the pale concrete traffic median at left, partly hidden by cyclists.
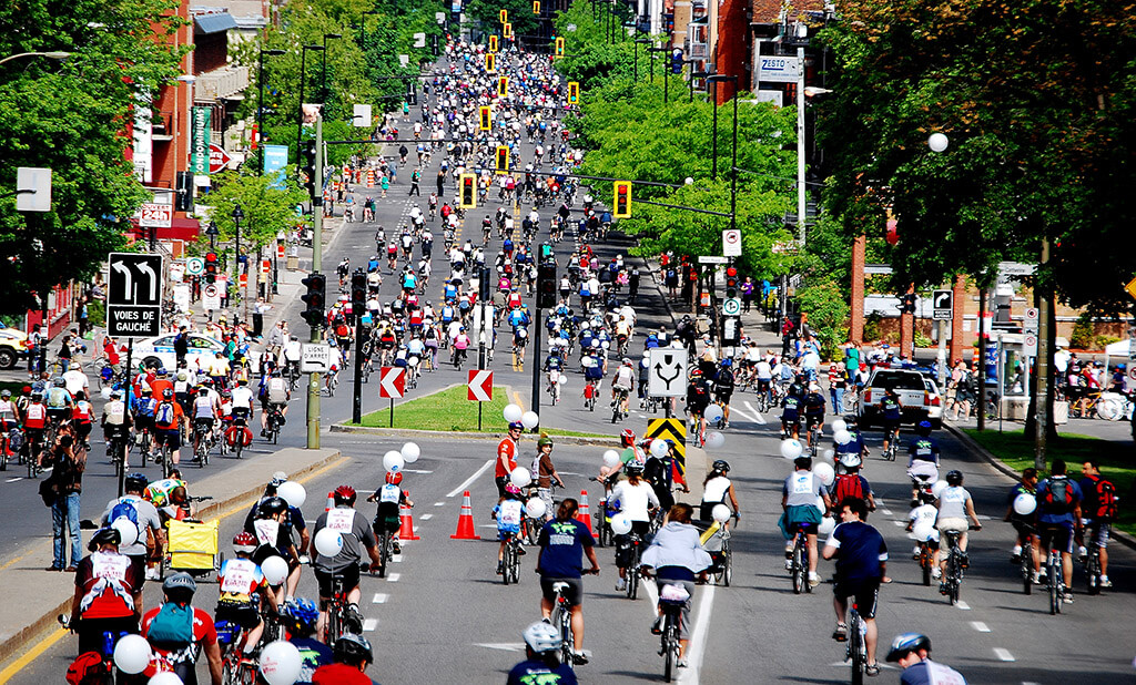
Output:
<path fill-rule="evenodd" d="M 265 483 L 277 471 L 302 483 L 344 460 L 335 449 L 282 449 L 192 483 L 191 494 L 214 498 L 198 511 L 200 518 L 220 518 L 256 501 L 264 492 Z M 317 496 L 309 493 L 309 500 L 319 501 Z M 44 530 L 50 531 L 49 514 L 44 514 Z M 90 532 L 85 538 L 90 538 Z M 56 616 L 70 612 L 75 575 L 43 570 L 50 564 L 51 539 L 48 534 L 0 567 L 0 587 L 9 598 L 18 598 L 0 603 L 0 662 L 18 656 L 44 634 L 58 629 Z"/>

